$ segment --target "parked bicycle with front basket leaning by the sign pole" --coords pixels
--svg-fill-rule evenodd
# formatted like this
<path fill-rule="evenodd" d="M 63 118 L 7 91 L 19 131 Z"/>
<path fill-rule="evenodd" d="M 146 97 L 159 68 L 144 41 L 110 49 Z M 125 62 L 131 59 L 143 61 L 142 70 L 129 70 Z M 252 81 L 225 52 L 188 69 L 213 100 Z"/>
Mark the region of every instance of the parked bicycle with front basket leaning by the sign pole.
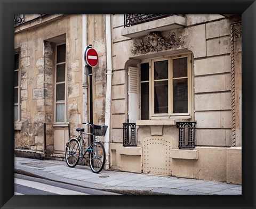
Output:
<path fill-rule="evenodd" d="M 84 128 L 77 128 L 79 137 L 72 137 L 66 144 L 65 159 L 70 168 L 74 168 L 79 161 L 82 161 L 85 154 L 89 152 L 89 164 L 92 172 L 99 173 L 105 165 L 106 152 L 103 144 L 95 136 L 105 136 L 107 126 L 97 126 L 92 123 L 83 123 L 92 127 L 92 133 L 84 132 Z M 93 135 L 92 143 L 84 152 L 83 135 Z"/>

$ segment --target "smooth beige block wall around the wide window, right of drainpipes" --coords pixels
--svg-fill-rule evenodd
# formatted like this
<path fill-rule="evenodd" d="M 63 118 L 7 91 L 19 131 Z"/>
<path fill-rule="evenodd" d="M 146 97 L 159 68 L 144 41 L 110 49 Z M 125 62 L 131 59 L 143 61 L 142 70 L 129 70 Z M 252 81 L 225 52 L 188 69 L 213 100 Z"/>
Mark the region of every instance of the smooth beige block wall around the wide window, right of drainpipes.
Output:
<path fill-rule="evenodd" d="M 231 170 L 235 170 L 235 165 L 238 166 L 239 170 L 241 153 L 236 152 L 235 162 L 230 162 L 230 152 L 227 150 L 228 147 L 232 146 L 232 101 L 234 100 L 232 98 L 233 86 L 231 81 L 231 45 L 233 43 L 230 36 L 230 25 L 237 21 L 237 17 L 227 19 L 219 14 L 186 15 L 187 27 L 161 31 L 162 40 L 168 40 L 168 37 L 175 35 L 172 46 L 167 46 L 164 51 L 149 48 L 147 36 L 132 39 L 121 36 L 123 18 L 123 15 L 112 16 L 113 92 L 110 166 L 113 165 L 113 168 L 124 171 L 131 170 L 130 161 L 133 161 L 134 168 L 136 168 L 135 172 L 140 172 L 141 169 L 141 172 L 154 172 L 156 174 L 166 174 L 167 172 L 169 175 L 178 177 L 218 181 L 227 181 L 231 178 L 241 183 L 242 177 L 239 173 L 235 177 L 229 175 Z M 241 40 L 236 39 L 235 52 L 238 53 L 235 54 L 234 67 L 236 72 L 235 83 L 237 83 L 235 87 L 237 101 L 235 109 L 236 135 L 241 130 L 239 129 L 241 124 L 237 121 L 239 120 L 238 114 L 241 114 L 239 111 L 239 108 L 241 108 L 241 104 L 239 105 L 241 97 L 239 95 L 241 94 L 241 52 L 239 52 L 239 47 L 241 47 L 241 42 L 239 41 Z M 164 44 L 166 43 L 167 41 Z M 129 147 L 125 153 L 130 154 L 126 154 L 125 160 L 122 160 L 124 159 L 121 152 L 123 151 L 121 146 L 123 142 L 122 123 L 127 122 L 127 66 L 136 67 L 140 60 L 145 58 L 162 57 L 189 51 L 194 56 L 193 113 L 191 114 L 191 120 L 197 122 L 195 131 L 197 147 L 194 151 L 198 154 L 198 157 L 186 158 L 191 153 L 182 156 L 182 153 L 177 149 L 178 129 L 173 125 L 164 125 L 163 122 L 162 125 L 160 124 L 162 126 L 161 135 L 152 133 L 153 126 L 147 126 L 146 124 L 139 126 L 138 147 L 142 148 L 141 155 L 134 155 L 133 147 Z M 173 124 L 175 124 L 175 121 Z M 167 141 L 167 144 L 162 143 L 160 145 L 161 139 Z M 147 143 L 148 140 L 151 140 L 154 145 L 156 144 L 153 146 L 156 148 L 152 148 L 149 145 L 150 143 Z M 239 146 L 240 140 L 241 138 L 237 140 L 237 146 Z M 168 143 L 171 143 L 170 146 L 167 146 Z M 147 153 L 149 150 L 150 153 Z M 177 153 L 179 156 L 175 156 Z M 153 156 L 158 156 L 159 161 L 155 161 Z M 216 158 L 216 156 L 218 157 Z M 136 157 L 136 161 L 134 161 L 134 157 Z M 122 161 L 122 163 L 119 161 Z M 159 162 L 162 162 L 162 164 L 158 168 Z M 147 163 L 151 168 L 148 168 Z M 165 164 L 166 166 L 164 166 Z"/>

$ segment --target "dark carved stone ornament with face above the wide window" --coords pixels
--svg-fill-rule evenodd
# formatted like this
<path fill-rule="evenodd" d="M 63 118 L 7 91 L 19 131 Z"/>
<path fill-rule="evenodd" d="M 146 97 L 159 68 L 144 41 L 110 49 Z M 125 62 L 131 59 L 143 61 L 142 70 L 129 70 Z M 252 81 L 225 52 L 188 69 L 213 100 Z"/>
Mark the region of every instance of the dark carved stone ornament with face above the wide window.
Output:
<path fill-rule="evenodd" d="M 182 43 L 181 36 L 177 38 L 175 32 L 172 32 L 172 35 L 167 36 L 166 38 L 162 37 L 160 32 L 151 32 L 146 37 L 145 41 L 141 38 L 139 44 L 134 43 L 131 52 L 133 54 L 161 52 L 167 49 L 178 48 Z"/>

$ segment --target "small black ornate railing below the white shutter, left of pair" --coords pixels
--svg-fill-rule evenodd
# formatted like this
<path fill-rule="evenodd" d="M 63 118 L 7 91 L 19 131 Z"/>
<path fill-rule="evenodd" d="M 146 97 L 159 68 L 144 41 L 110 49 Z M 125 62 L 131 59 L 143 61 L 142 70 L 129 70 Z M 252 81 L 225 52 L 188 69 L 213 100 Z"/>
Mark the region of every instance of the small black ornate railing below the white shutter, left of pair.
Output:
<path fill-rule="evenodd" d="M 135 123 L 123 123 L 123 146 L 137 146 Z"/>

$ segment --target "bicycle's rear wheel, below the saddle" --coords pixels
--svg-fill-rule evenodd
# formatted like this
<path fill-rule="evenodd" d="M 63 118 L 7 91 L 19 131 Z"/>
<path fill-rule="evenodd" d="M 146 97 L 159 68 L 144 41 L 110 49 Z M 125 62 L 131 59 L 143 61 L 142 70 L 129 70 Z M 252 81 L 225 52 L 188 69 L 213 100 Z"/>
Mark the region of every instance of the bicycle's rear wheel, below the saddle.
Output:
<path fill-rule="evenodd" d="M 66 145 L 65 158 L 69 167 L 74 168 L 78 161 L 81 152 L 81 146 L 77 139 L 71 139 Z"/>

